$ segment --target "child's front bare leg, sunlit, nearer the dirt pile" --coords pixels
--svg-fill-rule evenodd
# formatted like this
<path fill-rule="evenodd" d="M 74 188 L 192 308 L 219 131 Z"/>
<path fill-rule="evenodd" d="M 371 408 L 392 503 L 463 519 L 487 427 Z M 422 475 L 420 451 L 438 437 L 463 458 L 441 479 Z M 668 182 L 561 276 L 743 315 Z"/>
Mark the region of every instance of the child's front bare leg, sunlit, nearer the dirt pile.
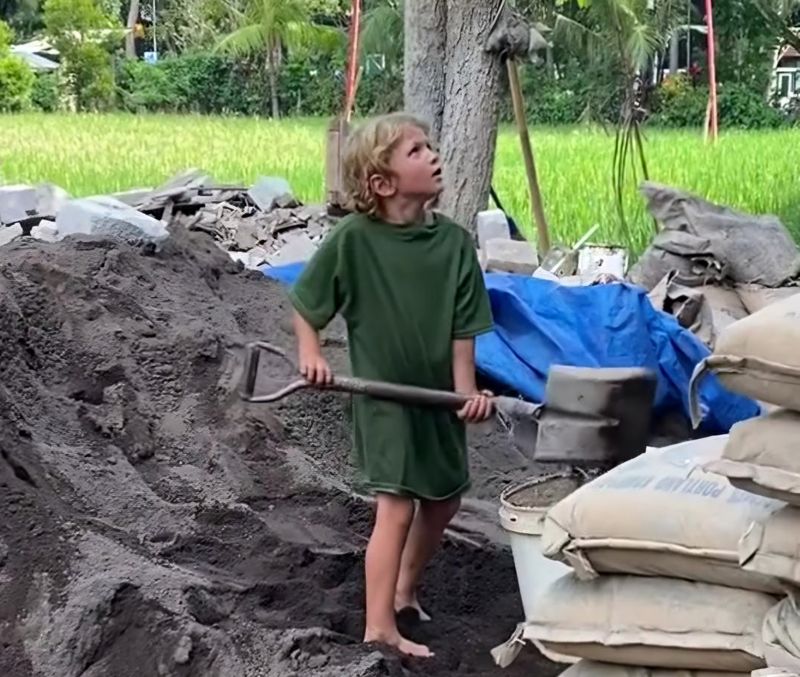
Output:
<path fill-rule="evenodd" d="M 378 494 L 375 527 L 366 555 L 367 627 L 365 642 L 380 642 L 412 656 L 431 656 L 428 647 L 400 635 L 394 611 L 400 557 L 414 517 L 414 502 Z"/>

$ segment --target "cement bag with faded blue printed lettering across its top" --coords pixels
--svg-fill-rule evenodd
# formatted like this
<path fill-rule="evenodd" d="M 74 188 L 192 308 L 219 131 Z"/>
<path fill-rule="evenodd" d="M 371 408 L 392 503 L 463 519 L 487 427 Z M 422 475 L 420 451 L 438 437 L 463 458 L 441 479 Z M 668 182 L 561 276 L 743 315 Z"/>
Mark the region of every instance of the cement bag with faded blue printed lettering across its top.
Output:
<path fill-rule="evenodd" d="M 548 511 L 544 555 L 586 580 L 622 573 L 781 592 L 774 577 L 739 566 L 739 540 L 785 504 L 702 469 L 727 439 L 648 451 L 583 485 Z"/>

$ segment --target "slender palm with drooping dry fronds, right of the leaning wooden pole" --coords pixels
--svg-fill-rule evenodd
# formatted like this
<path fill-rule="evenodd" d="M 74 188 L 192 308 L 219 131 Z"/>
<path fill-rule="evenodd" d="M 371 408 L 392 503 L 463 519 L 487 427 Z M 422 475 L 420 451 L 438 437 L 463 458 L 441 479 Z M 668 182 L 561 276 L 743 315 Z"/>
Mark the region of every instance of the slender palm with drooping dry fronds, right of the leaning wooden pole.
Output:
<path fill-rule="evenodd" d="M 570 0 L 559 0 L 564 5 Z M 686 13 L 686 0 L 576 0 L 577 18 L 558 14 L 554 41 L 581 50 L 589 59 L 613 60 L 624 96 L 619 111 L 613 156 L 613 183 L 623 235 L 630 242 L 624 211 L 628 169 L 648 178 L 640 122 L 646 73 L 663 53 L 672 30 Z"/>

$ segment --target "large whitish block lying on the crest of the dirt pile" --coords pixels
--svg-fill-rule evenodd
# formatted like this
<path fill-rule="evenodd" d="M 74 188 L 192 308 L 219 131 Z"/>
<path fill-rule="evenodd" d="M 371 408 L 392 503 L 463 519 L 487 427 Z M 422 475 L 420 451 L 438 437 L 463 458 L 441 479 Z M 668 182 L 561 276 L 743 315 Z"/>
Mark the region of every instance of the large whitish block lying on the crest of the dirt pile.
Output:
<path fill-rule="evenodd" d="M 56 216 L 56 228 L 59 239 L 86 233 L 158 243 L 169 237 L 161 221 L 107 196 L 70 200 Z"/>

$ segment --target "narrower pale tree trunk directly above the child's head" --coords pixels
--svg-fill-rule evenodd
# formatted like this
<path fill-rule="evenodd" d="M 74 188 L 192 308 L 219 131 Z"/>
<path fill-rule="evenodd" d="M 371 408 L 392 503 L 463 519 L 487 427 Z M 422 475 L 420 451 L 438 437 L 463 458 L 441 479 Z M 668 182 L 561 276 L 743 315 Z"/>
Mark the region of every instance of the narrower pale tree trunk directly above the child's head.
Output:
<path fill-rule="evenodd" d="M 405 109 L 423 118 L 438 142 L 444 116 L 447 2 L 406 0 L 403 15 Z"/>

